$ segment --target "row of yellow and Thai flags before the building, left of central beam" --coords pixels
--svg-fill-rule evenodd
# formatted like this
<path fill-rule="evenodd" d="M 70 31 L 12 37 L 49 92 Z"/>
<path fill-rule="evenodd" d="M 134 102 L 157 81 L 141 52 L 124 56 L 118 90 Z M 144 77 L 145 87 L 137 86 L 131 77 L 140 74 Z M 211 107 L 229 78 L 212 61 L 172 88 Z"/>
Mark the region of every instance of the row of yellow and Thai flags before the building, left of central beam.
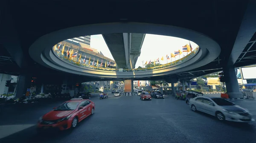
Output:
<path fill-rule="evenodd" d="M 64 46 L 63 46 L 63 48 L 62 48 L 62 50 L 61 50 L 61 53 L 62 53 L 62 54 L 64 54 L 65 45 L 66 45 L 66 43 L 64 44 Z M 58 45 L 58 48 L 57 48 L 57 45 L 55 45 L 54 50 L 57 50 L 57 49 L 60 50 L 60 47 L 61 47 L 61 43 Z M 75 58 L 75 57 L 78 55 L 78 51 L 76 51 L 76 52 L 74 53 L 74 50 L 73 50 L 73 49 L 70 49 L 70 48 L 67 49 L 67 52 L 66 52 L 66 53 L 67 53 L 67 57 L 69 57 L 70 59 L 71 59 L 71 58 Z M 85 63 L 86 63 L 86 55 L 84 56 L 84 59 L 82 59 L 82 60 L 81 60 L 81 56 L 82 56 L 82 53 L 80 54 L 78 61 L 79 61 L 80 63 L 83 62 L 83 63 L 85 64 Z M 90 58 L 89 58 L 89 62 L 88 62 L 88 63 L 90 64 Z M 94 66 L 94 64 L 95 64 L 95 58 L 93 58 L 93 66 Z M 101 61 L 100 67 L 102 67 L 102 64 L 103 64 L 103 59 L 102 59 L 102 61 Z M 109 61 L 108 64 L 107 64 L 107 60 L 106 60 L 106 62 L 105 62 L 105 67 L 108 67 L 108 66 L 110 66 L 110 65 L 112 65 L 112 62 Z M 97 66 L 97 67 L 99 66 L 99 59 L 97 59 L 96 66 Z"/>

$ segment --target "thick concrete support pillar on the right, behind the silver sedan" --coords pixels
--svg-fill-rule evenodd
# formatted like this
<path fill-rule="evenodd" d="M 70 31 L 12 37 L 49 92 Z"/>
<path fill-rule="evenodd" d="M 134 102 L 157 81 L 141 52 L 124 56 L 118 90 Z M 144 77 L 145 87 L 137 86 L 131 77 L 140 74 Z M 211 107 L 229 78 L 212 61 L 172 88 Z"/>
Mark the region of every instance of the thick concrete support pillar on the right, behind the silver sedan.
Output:
<path fill-rule="evenodd" d="M 230 98 L 243 98 L 243 94 L 239 91 L 239 85 L 234 67 L 224 67 L 224 81 L 227 87 L 227 94 Z"/>

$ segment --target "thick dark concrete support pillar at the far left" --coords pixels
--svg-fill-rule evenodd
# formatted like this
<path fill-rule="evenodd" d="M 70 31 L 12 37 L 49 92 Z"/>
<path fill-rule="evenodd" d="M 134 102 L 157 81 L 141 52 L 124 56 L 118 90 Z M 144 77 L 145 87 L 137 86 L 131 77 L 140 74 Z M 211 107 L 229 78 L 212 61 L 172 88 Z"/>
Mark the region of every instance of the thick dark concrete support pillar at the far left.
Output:
<path fill-rule="evenodd" d="M 17 92 L 16 92 L 16 97 L 15 98 L 20 98 L 24 94 L 26 94 L 26 89 L 30 89 L 30 79 L 31 76 L 26 75 L 26 74 L 20 74 L 18 83 L 17 83 Z"/>

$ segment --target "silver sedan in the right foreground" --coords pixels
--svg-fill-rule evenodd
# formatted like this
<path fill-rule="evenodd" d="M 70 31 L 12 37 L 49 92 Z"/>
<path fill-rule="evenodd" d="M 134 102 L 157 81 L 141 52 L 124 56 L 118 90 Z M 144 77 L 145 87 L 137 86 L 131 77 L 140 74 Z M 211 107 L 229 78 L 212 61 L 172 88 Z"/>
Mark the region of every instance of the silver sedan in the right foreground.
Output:
<path fill-rule="evenodd" d="M 244 109 L 224 98 L 198 96 L 190 99 L 189 106 L 193 111 L 198 110 L 216 116 L 220 121 L 255 121 L 247 109 Z"/>

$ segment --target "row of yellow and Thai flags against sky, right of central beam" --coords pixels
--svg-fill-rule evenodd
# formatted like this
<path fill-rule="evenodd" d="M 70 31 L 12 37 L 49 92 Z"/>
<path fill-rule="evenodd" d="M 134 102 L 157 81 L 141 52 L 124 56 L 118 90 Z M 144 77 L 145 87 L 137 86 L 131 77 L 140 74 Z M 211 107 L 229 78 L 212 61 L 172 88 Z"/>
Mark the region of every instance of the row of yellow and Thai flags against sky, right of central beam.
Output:
<path fill-rule="evenodd" d="M 178 50 L 178 51 L 174 51 L 174 54 L 171 53 L 171 61 L 172 61 L 172 58 L 175 58 L 175 59 L 176 59 L 176 56 L 177 56 L 177 55 L 180 56 L 180 55 L 182 54 L 182 52 L 187 52 L 187 53 L 188 53 L 188 52 L 192 52 L 192 50 L 193 50 L 193 49 L 192 49 L 192 46 L 191 46 L 191 44 L 190 44 L 190 42 L 189 42 L 189 44 L 186 44 L 186 45 L 182 46 L 182 51 L 181 51 L 181 50 Z M 168 59 L 170 59 L 170 57 L 169 57 L 168 55 L 166 55 L 166 61 L 167 61 Z M 162 61 L 164 60 L 163 56 L 162 56 L 161 60 L 162 60 Z M 159 58 L 157 58 L 157 60 L 154 60 L 154 66 L 156 65 L 156 62 L 160 62 L 160 61 L 159 61 Z M 167 62 L 168 62 L 168 61 L 167 61 Z M 146 61 L 144 65 L 147 65 L 147 64 L 152 64 L 151 60 L 149 60 L 149 62 Z"/>

